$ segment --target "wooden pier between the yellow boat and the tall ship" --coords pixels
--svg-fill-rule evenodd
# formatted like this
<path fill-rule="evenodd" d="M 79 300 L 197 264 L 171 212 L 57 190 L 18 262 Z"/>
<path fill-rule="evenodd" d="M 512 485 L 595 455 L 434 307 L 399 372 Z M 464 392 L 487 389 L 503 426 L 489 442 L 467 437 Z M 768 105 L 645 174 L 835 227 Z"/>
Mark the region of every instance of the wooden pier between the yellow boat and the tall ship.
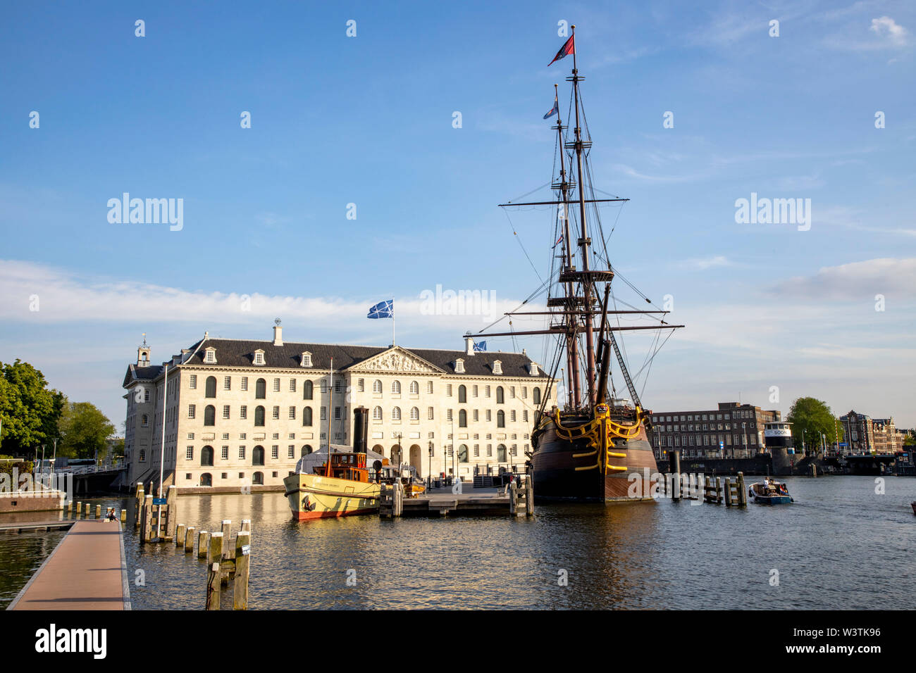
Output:
<path fill-rule="evenodd" d="M 457 493 L 444 489 L 442 492 L 409 498 L 404 495 L 404 489 L 400 484 L 383 485 L 378 514 L 383 518 L 449 514 L 534 515 L 534 491 L 530 480 L 513 482 L 503 489 L 474 489 L 471 483 L 467 483 L 466 492 L 463 488 Z"/>

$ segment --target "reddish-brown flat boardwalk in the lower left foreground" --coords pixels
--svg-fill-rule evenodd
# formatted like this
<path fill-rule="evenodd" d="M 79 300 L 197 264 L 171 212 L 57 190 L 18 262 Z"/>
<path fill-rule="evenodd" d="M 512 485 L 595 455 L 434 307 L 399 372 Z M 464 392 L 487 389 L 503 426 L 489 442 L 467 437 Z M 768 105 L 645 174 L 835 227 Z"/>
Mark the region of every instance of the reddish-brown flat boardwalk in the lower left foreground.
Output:
<path fill-rule="evenodd" d="M 130 610 L 118 522 L 76 521 L 7 610 Z"/>

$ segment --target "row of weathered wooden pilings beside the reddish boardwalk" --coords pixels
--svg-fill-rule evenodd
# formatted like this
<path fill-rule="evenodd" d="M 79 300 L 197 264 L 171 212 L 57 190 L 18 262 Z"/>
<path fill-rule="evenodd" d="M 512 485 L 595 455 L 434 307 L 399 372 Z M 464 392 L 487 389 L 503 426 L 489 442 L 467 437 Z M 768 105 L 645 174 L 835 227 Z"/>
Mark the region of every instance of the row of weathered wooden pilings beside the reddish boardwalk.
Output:
<path fill-rule="evenodd" d="M 153 496 L 145 494 L 142 483 L 136 484 L 134 526 L 140 528 L 140 542 L 174 542 L 185 554 L 194 553 L 207 564 L 206 609 L 220 609 L 223 587 L 233 581 L 234 610 L 248 609 L 249 557 L 251 553 L 251 520 L 243 519 L 232 544 L 232 521 L 225 519 L 218 532 L 208 533 L 195 526 L 177 522 L 178 491 L 169 486 L 165 505 L 153 505 Z M 122 510 L 122 521 L 126 513 Z M 172 534 L 174 531 L 174 534 Z"/>

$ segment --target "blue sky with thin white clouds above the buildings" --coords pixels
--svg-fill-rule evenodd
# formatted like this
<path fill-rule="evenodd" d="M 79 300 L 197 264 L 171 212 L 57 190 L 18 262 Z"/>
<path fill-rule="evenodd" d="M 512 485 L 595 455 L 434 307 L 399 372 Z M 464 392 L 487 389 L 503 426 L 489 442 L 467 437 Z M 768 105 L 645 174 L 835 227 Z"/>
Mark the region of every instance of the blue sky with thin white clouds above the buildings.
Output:
<path fill-rule="evenodd" d="M 144 333 L 154 362 L 275 318 L 385 346 L 365 314 L 393 298 L 398 344 L 463 348 L 549 273 L 551 213 L 497 204 L 550 196 L 575 24 L 594 186 L 629 199 L 601 210 L 616 297 L 686 325 L 650 368 L 627 335 L 645 406 L 814 396 L 916 426 L 916 5 L 697 5 L 0 6 L 0 361 L 120 428 Z M 125 192 L 180 224 L 112 222 Z M 741 199 L 810 220 L 739 222 Z M 437 287 L 488 300 L 448 315 Z"/>

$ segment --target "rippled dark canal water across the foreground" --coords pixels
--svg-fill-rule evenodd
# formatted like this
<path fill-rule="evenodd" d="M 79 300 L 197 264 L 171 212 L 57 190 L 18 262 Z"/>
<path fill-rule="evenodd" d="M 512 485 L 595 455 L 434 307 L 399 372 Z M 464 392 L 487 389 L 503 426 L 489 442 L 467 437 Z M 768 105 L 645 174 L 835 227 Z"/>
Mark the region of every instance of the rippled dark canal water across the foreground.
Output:
<path fill-rule="evenodd" d="M 180 497 L 179 520 L 218 530 L 230 519 L 233 532 L 252 520 L 251 609 L 916 607 L 916 480 L 888 477 L 885 494 L 874 477 L 786 481 L 795 504 L 747 509 L 660 499 L 297 523 L 282 494 L 232 494 Z M 29 536 L 0 536 L 0 607 L 60 538 L 38 536 L 38 549 Z M 131 526 L 125 554 L 135 609 L 202 609 L 196 554 L 141 547 Z"/>

